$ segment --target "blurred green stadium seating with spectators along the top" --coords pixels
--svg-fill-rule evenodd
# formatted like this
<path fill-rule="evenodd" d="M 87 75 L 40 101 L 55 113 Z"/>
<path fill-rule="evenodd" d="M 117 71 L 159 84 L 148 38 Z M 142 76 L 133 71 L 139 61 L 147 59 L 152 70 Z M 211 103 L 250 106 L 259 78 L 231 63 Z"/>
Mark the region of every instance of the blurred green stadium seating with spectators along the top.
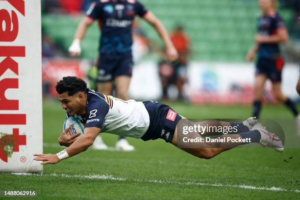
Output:
<path fill-rule="evenodd" d="M 94 1 L 97 0 L 42 0 L 45 57 L 68 56 L 76 26 Z M 245 54 L 253 44 L 255 20 L 260 15 L 257 0 L 140 1 L 170 32 L 177 25 L 183 26 L 191 39 L 193 60 L 245 61 Z M 285 20 L 291 38 L 291 42 L 283 47 L 285 58 L 288 62 L 299 63 L 300 0 L 279 0 L 279 13 Z M 95 59 L 97 56 L 98 45 L 95 45 L 95 41 L 99 40 L 100 35 L 97 28 L 94 25 L 93 31 L 83 41 L 83 58 Z M 147 23 L 138 20 L 135 30 L 135 33 L 149 41 L 148 54 L 161 50 L 161 40 Z"/>

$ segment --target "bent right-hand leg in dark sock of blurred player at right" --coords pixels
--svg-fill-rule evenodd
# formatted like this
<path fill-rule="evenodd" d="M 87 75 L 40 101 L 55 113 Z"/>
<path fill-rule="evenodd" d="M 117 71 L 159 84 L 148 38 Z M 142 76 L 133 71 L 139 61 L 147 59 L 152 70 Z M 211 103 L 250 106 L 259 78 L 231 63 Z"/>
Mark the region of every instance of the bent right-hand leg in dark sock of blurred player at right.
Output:
<path fill-rule="evenodd" d="M 285 95 L 282 94 L 281 91 L 281 82 L 273 82 L 272 84 L 273 92 L 280 102 L 283 102 L 294 114 L 296 117 L 298 115 L 298 109 L 293 101 L 287 98 Z"/>

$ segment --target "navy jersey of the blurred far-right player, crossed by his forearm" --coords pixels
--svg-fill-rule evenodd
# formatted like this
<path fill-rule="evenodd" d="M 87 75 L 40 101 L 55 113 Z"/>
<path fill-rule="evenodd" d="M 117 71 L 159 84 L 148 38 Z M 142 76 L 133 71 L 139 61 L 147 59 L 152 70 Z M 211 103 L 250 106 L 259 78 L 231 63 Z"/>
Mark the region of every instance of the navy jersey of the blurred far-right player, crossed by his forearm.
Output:
<path fill-rule="evenodd" d="M 273 16 L 261 16 L 257 21 L 258 34 L 271 36 L 278 28 L 285 27 L 284 22 L 278 13 Z M 274 58 L 280 56 L 279 44 L 260 44 L 258 49 L 259 58 Z"/>

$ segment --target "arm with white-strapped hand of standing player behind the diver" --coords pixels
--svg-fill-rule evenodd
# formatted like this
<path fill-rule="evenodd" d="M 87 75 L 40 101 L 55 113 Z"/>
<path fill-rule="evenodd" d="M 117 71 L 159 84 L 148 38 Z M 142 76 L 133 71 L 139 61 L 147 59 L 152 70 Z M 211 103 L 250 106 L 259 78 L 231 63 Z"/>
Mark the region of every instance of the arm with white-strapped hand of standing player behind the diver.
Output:
<path fill-rule="evenodd" d="M 69 48 L 71 56 L 79 56 L 81 54 L 80 41 L 84 38 L 88 27 L 93 24 L 94 20 L 89 17 L 84 17 L 79 23 L 75 32 L 74 40 Z"/>

